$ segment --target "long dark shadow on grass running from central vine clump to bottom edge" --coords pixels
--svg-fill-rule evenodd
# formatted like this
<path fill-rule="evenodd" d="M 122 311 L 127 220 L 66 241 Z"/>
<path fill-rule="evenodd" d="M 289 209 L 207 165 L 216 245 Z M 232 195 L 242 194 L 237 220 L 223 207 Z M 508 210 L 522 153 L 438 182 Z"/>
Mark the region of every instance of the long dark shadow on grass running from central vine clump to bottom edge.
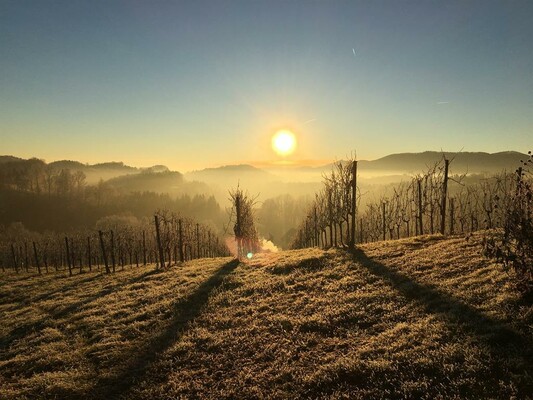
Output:
<path fill-rule="evenodd" d="M 142 381 L 150 364 L 183 336 L 187 324 L 200 315 L 213 290 L 218 288 L 224 278 L 238 265 L 238 260 L 224 264 L 189 297 L 175 303 L 173 316 L 167 327 L 152 337 L 135 355 L 132 355 L 128 367 L 116 376 L 97 382 L 96 398 L 118 399 L 125 395 L 136 382 Z"/>

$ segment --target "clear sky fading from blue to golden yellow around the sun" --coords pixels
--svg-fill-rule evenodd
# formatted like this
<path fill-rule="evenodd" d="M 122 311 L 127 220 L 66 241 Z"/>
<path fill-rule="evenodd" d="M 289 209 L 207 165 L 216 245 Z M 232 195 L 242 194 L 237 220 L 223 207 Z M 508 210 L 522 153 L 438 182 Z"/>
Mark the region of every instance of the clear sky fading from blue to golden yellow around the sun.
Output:
<path fill-rule="evenodd" d="M 0 0 L 0 154 L 188 171 L 525 153 L 531 21 L 531 1 Z"/>

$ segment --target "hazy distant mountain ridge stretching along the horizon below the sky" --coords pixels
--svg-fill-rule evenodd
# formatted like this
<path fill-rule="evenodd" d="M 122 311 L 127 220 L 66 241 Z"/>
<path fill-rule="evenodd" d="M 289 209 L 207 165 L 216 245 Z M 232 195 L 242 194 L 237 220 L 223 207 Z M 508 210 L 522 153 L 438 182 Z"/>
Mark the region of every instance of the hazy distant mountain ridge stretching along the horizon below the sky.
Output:
<path fill-rule="evenodd" d="M 443 156 L 451 160 L 450 172 L 453 173 L 473 173 L 473 174 L 493 174 L 503 170 L 514 171 L 520 160 L 526 159 L 527 155 L 516 151 L 502 151 L 497 153 L 486 152 L 439 152 L 424 151 L 421 153 L 397 153 L 381 157 L 376 160 L 359 160 L 358 171 L 361 177 L 365 174 L 369 176 L 393 176 L 393 175 L 413 175 L 427 170 L 439 161 Z M 25 161 L 22 158 L 4 155 L 0 156 L 0 165 L 5 163 L 17 163 Z M 342 162 L 342 161 L 341 161 Z M 138 179 L 118 179 L 127 175 L 137 175 L 142 172 L 173 172 L 164 165 L 155 165 L 149 168 L 137 168 L 125 165 L 123 162 L 105 162 L 98 164 L 83 164 L 79 161 L 61 160 L 54 161 L 48 165 L 63 169 L 81 170 L 87 176 L 88 183 L 96 183 L 100 179 L 114 179 L 113 184 L 117 186 L 142 187 L 141 182 L 155 179 L 154 176 L 139 177 Z M 170 174 L 174 182 L 179 182 L 183 178 L 188 181 L 204 182 L 209 185 L 217 185 L 222 188 L 234 187 L 240 184 L 243 187 L 249 186 L 258 191 L 265 191 L 265 185 L 277 185 L 282 182 L 319 182 L 322 174 L 331 170 L 333 163 L 318 167 L 291 167 L 291 168 L 258 168 L 248 164 L 224 165 L 215 168 L 205 168 L 191 171 L 185 174 Z M 291 175 L 292 174 L 292 175 Z M 299 176 L 298 176 L 299 174 Z M 157 177 L 156 180 L 162 177 Z M 134 184 L 134 181 L 137 181 Z M 148 185 L 151 187 L 151 185 Z"/>

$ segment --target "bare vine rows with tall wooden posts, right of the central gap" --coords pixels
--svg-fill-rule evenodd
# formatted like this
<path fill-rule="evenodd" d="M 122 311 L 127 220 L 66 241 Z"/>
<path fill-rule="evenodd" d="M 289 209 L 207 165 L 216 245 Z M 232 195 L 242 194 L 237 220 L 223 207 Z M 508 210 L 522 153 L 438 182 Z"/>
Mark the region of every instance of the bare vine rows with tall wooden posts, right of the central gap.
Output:
<path fill-rule="evenodd" d="M 515 173 L 470 182 L 467 175 L 451 175 L 452 165 L 453 160 L 443 156 L 441 163 L 373 199 L 356 189 L 357 161 L 336 163 L 300 224 L 293 248 L 351 247 L 354 242 L 503 228 L 513 193 L 531 180 L 531 174 L 526 176 L 520 167 Z M 365 207 L 360 207 L 362 200 Z M 531 213 L 531 200 L 521 201 L 524 213 Z"/>

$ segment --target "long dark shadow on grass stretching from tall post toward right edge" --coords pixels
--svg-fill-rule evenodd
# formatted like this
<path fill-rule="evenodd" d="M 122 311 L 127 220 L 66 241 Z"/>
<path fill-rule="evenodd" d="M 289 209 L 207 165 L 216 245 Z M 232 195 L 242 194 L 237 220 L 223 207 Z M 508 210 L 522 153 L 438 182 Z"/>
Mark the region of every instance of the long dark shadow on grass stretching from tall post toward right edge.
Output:
<path fill-rule="evenodd" d="M 411 277 L 372 260 L 361 250 L 356 250 L 353 257 L 354 261 L 366 267 L 372 274 L 388 281 L 408 300 L 424 307 L 427 313 L 443 316 L 447 321 L 456 323 L 474 334 L 487 345 L 492 354 L 509 360 L 518 357 L 524 361 L 524 365 L 531 366 L 531 361 L 528 360 L 533 359 L 533 347 L 528 337 L 448 293 L 418 283 Z M 533 372 L 533 368 L 528 370 L 529 373 Z"/>

